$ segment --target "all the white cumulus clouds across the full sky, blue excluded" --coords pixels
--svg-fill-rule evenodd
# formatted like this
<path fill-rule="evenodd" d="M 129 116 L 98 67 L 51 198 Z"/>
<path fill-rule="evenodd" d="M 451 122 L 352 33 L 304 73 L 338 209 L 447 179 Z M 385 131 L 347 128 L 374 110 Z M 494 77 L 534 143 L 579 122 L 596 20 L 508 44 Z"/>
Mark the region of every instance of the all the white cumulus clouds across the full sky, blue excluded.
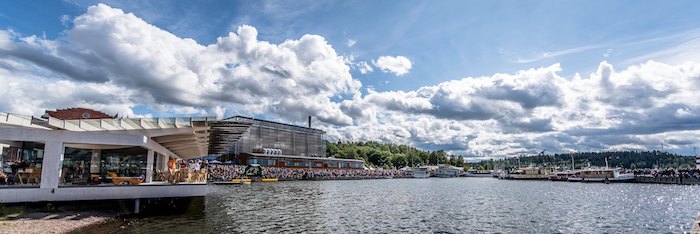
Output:
<path fill-rule="evenodd" d="M 700 144 L 700 64 L 601 62 L 591 74 L 559 64 L 465 77 L 415 90 L 360 92 L 351 69 L 318 35 L 275 44 L 252 26 L 203 45 L 98 4 L 56 39 L 0 29 L 0 111 L 41 115 L 88 107 L 136 116 L 136 106 L 180 114 L 257 115 L 300 123 L 330 139 L 507 156 L 577 150 L 671 150 Z M 397 76 L 408 58 L 373 65 Z"/>

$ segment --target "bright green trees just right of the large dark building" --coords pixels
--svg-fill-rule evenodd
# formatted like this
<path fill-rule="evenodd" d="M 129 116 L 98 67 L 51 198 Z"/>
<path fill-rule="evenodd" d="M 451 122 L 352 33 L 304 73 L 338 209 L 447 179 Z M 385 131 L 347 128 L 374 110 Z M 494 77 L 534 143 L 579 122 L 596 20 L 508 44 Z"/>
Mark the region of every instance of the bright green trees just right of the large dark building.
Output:
<path fill-rule="evenodd" d="M 407 145 L 366 142 L 329 142 L 326 141 L 326 155 L 336 158 L 361 159 L 371 167 L 403 168 L 450 164 L 457 167 L 465 165 L 464 157 L 449 155 L 444 150 L 423 151 Z"/>

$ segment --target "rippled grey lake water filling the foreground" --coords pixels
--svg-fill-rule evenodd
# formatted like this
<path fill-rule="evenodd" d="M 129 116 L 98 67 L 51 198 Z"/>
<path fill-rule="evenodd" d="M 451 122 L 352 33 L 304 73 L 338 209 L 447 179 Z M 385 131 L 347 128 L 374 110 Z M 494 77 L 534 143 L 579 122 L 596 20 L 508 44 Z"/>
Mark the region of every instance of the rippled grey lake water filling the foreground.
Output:
<path fill-rule="evenodd" d="M 209 186 L 205 208 L 115 220 L 89 232 L 682 233 L 700 186 L 492 178 Z M 197 210 L 197 209 L 194 209 Z"/>

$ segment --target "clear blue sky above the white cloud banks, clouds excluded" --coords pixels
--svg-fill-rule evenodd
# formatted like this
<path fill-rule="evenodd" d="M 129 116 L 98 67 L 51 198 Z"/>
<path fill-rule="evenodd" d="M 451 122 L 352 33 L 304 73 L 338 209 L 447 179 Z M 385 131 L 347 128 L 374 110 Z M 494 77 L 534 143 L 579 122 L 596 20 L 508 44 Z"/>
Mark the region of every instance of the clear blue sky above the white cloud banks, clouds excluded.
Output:
<path fill-rule="evenodd" d="M 562 64 L 564 75 L 593 72 L 601 61 L 628 66 L 627 60 L 683 40 L 664 37 L 700 27 L 697 1 L 68 0 L 0 2 L 0 27 L 56 38 L 67 28 L 61 17 L 80 15 L 98 2 L 200 44 L 247 24 L 270 42 L 317 34 L 341 54 L 411 59 L 414 67 L 400 79 L 381 72 L 354 74 L 379 91 L 554 63 Z M 653 39 L 658 41 L 640 42 Z M 348 47 L 348 40 L 355 45 Z"/>

